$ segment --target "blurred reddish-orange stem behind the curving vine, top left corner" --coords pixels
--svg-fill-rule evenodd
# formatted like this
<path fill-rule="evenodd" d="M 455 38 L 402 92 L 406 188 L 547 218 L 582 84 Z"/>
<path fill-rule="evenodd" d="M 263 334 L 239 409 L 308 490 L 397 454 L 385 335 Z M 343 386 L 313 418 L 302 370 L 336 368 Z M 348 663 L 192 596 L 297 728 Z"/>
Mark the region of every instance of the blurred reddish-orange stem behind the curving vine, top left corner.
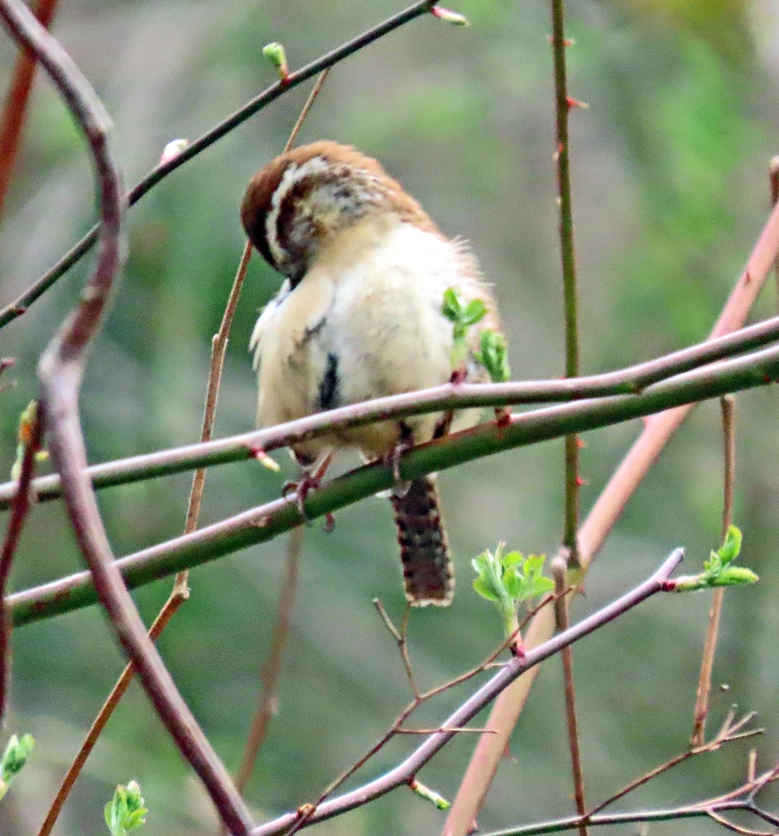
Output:
<path fill-rule="evenodd" d="M 57 0 L 39 0 L 35 17 L 43 28 L 51 26 L 56 8 Z M 3 105 L 3 116 L 0 118 L 0 217 L 3 216 L 3 205 L 11 184 L 37 63 L 35 54 L 26 49 L 18 54 Z"/>

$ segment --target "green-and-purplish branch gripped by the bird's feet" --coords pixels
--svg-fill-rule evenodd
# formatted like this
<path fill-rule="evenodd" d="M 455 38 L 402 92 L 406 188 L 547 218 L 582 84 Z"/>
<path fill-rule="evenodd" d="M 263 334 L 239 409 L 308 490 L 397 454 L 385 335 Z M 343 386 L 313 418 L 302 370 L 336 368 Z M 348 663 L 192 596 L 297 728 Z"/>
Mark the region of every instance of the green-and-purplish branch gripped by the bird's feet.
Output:
<path fill-rule="evenodd" d="M 571 431 L 611 425 L 686 401 L 719 397 L 728 391 L 765 385 L 767 380 L 776 377 L 779 377 L 779 348 L 766 349 L 748 358 L 730 360 L 655 384 L 645 390 L 643 395 L 580 401 L 517 415 L 508 423 L 483 424 L 405 453 L 400 459 L 401 477 L 420 478 L 426 473 L 458 466 L 512 447 L 559 438 Z M 271 438 L 277 432 L 278 428 L 267 431 L 268 435 L 264 437 Z M 253 437 L 261 440 L 262 431 Z M 393 484 L 395 476 L 391 466 L 375 462 L 359 467 L 308 494 L 304 503 L 306 515 L 309 519 L 315 519 L 328 512 L 338 511 L 358 499 L 389 490 Z M 253 543 L 267 542 L 303 522 L 295 499 L 281 498 L 221 523 L 121 558 L 117 567 L 123 573 L 126 583 L 135 587 L 182 568 L 206 563 Z M 13 609 L 14 624 L 66 612 L 93 601 L 94 589 L 89 573 L 76 573 L 69 578 L 52 581 L 8 598 L 8 604 Z"/>

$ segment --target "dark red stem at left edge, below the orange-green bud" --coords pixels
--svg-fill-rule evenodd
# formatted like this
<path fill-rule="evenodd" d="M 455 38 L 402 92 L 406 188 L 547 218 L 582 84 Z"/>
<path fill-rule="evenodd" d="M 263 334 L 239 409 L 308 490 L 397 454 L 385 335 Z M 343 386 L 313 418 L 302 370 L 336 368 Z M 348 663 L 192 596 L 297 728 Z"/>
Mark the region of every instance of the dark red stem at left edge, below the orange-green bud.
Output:
<path fill-rule="evenodd" d="M 5 589 L 8 584 L 8 575 L 11 572 L 13 555 L 22 536 L 22 529 L 30 510 L 30 483 L 35 475 L 35 460 L 40 450 L 43 437 L 42 422 L 38 417 L 37 405 L 31 405 L 33 417 L 28 426 L 20 427 L 20 439 L 22 434 L 24 454 L 22 466 L 19 472 L 16 497 L 13 499 L 11 514 L 8 517 L 8 528 L 6 528 L 3 549 L 0 552 L 0 602 L 3 602 L 2 623 L 0 623 L 0 721 L 3 721 L 8 698 L 8 678 L 10 673 L 10 645 L 11 645 L 11 612 L 5 603 Z"/>

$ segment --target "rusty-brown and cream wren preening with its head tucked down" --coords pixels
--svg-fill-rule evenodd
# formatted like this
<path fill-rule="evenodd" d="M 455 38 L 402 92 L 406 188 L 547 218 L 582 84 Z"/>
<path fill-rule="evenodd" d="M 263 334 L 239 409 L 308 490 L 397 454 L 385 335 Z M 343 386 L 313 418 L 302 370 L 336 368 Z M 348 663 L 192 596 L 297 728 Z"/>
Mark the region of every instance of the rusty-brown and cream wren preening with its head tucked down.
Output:
<path fill-rule="evenodd" d="M 290 150 L 252 177 L 241 218 L 266 261 L 286 276 L 262 310 L 250 350 L 259 376 L 257 425 L 452 380 L 444 292 L 480 298 L 484 319 L 466 339 L 460 380 L 487 380 L 474 352 L 496 330 L 495 303 L 466 245 L 443 236 L 379 163 L 331 141 Z M 334 431 L 296 444 L 302 466 L 355 447 L 368 459 L 473 426 L 481 410 L 417 415 Z M 433 477 L 392 495 L 411 604 L 451 602 L 451 558 Z"/>

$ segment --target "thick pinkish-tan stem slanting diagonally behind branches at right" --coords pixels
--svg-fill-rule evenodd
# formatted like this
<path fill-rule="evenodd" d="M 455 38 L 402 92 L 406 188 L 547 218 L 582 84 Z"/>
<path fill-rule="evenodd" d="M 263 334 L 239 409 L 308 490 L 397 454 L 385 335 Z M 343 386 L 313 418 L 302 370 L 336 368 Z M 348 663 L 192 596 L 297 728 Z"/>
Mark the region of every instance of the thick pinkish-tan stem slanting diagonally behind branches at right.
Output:
<path fill-rule="evenodd" d="M 751 252 L 746 268 L 727 299 L 720 318 L 711 330 L 709 339 L 730 334 L 744 324 L 757 294 L 771 272 L 777 253 L 779 205 L 771 212 L 771 217 Z M 579 530 L 578 547 L 583 576 L 586 575 L 590 563 L 597 556 L 630 497 L 664 446 L 690 415 L 694 405 L 664 410 L 646 421 L 644 431 L 609 479 Z M 553 627 L 551 614 L 542 612 L 533 620 L 527 631 L 525 646 L 533 647 L 546 640 L 552 635 Z M 485 735 L 476 744 L 471 762 L 461 781 L 460 791 L 451 805 L 444 829 L 445 836 L 465 836 L 476 817 L 505 750 L 507 738 L 517 725 L 535 675 L 535 671 L 531 671 L 529 675 L 523 676 L 496 700 L 486 726 L 499 729 L 501 733 Z"/>

